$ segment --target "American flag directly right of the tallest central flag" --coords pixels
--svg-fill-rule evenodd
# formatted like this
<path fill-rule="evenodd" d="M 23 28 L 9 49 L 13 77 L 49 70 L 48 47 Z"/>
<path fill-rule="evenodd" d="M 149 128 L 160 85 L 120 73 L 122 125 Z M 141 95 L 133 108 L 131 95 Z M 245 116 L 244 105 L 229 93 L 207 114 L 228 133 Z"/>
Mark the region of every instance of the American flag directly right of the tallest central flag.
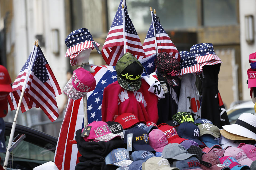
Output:
<path fill-rule="evenodd" d="M 157 17 L 153 14 L 151 11 L 151 15 L 153 16 L 154 20 L 154 26 L 155 26 L 155 33 L 157 38 L 157 48 L 158 53 L 160 52 L 167 52 L 171 54 L 172 56 L 175 56 L 175 58 L 180 61 L 180 55 L 179 51 L 171 41 L 170 37 L 166 33 L 165 29 L 163 29 L 162 25 L 158 22 Z M 151 22 L 151 25 L 149 27 L 149 31 L 147 32 L 146 38 L 143 43 L 143 49 L 145 51 L 146 57 L 151 56 L 152 54 L 156 53 L 155 49 L 155 34 L 154 34 L 154 28 L 153 28 L 153 22 Z"/>

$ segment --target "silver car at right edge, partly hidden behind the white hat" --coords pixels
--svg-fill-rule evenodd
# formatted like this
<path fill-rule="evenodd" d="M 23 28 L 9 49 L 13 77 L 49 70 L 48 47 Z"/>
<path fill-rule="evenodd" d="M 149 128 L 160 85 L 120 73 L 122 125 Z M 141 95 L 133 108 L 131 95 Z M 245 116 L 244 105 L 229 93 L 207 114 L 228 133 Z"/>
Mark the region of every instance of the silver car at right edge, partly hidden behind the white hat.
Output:
<path fill-rule="evenodd" d="M 242 113 L 254 114 L 254 104 L 251 100 L 231 104 L 230 109 L 227 109 L 230 124 L 234 124 Z"/>

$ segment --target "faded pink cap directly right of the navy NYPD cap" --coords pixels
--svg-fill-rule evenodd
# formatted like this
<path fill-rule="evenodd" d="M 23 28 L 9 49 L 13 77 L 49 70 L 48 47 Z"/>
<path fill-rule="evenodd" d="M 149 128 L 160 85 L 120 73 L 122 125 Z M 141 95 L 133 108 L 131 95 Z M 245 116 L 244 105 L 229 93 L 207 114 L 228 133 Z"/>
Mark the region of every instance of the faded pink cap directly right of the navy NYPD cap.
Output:
<path fill-rule="evenodd" d="M 167 137 L 160 129 L 153 129 L 149 133 L 149 139 L 149 145 L 157 152 L 162 152 L 163 148 L 168 145 Z"/>

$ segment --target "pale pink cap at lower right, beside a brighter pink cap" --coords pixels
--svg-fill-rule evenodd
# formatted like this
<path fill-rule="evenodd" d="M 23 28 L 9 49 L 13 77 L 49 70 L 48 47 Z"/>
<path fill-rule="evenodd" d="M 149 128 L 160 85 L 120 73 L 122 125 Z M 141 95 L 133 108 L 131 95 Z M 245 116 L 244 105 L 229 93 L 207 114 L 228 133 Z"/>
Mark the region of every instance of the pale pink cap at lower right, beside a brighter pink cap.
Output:
<path fill-rule="evenodd" d="M 225 153 L 223 156 L 230 156 L 233 157 L 237 160 L 237 162 L 241 165 L 248 165 L 250 166 L 253 160 L 249 159 L 245 153 L 240 148 L 235 148 L 235 147 L 228 147 L 225 150 Z"/>

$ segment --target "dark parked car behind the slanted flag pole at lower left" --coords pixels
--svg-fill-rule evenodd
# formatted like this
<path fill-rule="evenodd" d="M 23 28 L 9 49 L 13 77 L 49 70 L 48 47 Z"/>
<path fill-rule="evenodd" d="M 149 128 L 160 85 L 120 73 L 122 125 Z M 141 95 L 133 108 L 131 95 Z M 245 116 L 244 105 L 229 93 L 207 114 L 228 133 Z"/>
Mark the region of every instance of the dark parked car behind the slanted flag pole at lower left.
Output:
<path fill-rule="evenodd" d="M 6 147 L 11 133 L 11 122 L 5 122 Z M 14 138 L 18 134 L 25 134 L 26 138 L 10 153 L 7 168 L 33 170 L 34 167 L 53 161 L 58 139 L 41 131 L 16 125 Z M 5 160 L 5 154 L 1 154 Z M 1 165 L 3 162 L 1 161 Z"/>

